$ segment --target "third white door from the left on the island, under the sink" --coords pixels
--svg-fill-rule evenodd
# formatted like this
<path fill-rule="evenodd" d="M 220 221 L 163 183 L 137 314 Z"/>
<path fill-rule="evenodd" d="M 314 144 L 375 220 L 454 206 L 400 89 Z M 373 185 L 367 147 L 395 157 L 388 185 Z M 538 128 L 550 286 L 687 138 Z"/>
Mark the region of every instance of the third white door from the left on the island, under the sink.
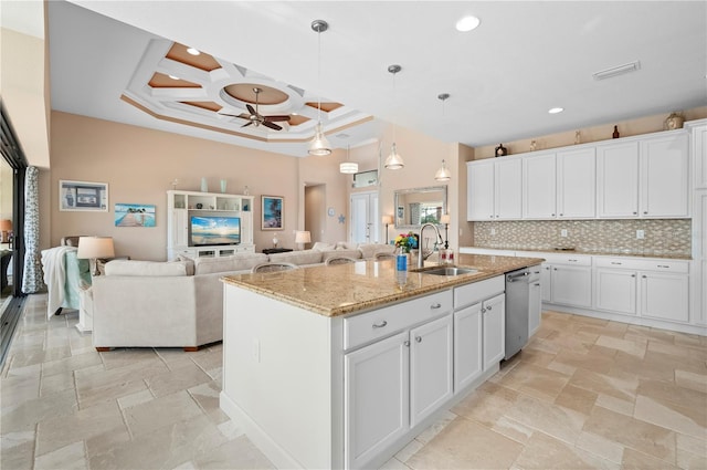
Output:
<path fill-rule="evenodd" d="M 454 391 L 481 376 L 482 303 L 454 312 Z"/>

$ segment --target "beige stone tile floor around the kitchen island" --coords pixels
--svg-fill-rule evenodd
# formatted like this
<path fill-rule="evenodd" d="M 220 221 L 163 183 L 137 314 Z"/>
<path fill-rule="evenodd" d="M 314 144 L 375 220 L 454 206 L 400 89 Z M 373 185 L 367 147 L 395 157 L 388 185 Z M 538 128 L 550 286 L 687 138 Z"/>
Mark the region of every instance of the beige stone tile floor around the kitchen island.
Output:
<path fill-rule="evenodd" d="M 219 409 L 221 345 L 96 353 L 31 295 L 0 377 L 2 469 L 264 469 Z M 386 469 L 707 469 L 707 338 L 546 312 Z"/>

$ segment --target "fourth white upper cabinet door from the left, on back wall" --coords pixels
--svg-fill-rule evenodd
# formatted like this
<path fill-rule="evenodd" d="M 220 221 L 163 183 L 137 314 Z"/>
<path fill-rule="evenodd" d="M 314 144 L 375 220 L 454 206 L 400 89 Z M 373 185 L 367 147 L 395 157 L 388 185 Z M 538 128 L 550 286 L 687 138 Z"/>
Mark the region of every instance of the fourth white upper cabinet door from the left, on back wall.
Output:
<path fill-rule="evenodd" d="M 563 219 L 597 215 L 597 157 L 594 148 L 557 154 L 557 216 Z"/>

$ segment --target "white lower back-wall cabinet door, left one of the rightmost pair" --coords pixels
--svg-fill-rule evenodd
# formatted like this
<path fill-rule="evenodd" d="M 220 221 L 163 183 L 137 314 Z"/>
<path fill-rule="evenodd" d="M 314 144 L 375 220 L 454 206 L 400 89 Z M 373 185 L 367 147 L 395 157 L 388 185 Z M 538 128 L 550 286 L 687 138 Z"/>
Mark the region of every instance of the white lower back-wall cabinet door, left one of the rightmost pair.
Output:
<path fill-rule="evenodd" d="M 597 309 L 636 314 L 636 273 L 598 269 L 594 280 Z"/>

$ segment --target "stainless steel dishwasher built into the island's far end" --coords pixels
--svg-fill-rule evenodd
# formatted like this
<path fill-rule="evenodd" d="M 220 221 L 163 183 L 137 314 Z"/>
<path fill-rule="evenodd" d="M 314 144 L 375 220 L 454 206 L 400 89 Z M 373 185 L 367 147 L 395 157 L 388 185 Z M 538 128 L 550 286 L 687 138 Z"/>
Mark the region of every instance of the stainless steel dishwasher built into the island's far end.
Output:
<path fill-rule="evenodd" d="M 528 342 L 530 270 L 506 273 L 506 356 L 509 359 Z"/>

